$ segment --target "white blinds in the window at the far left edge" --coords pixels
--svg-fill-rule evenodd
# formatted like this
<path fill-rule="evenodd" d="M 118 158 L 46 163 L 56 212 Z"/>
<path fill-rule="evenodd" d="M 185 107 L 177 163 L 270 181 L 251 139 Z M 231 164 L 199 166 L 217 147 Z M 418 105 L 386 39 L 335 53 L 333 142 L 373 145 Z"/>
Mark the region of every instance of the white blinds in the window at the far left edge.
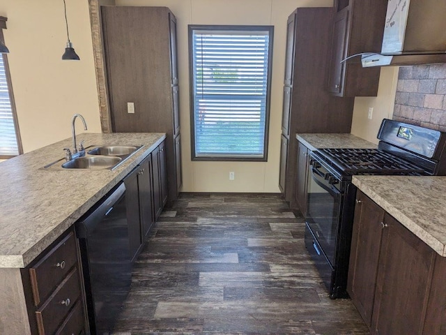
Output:
<path fill-rule="evenodd" d="M 6 80 L 6 68 L 0 54 L 0 156 L 17 156 L 18 154 L 19 148 Z"/>

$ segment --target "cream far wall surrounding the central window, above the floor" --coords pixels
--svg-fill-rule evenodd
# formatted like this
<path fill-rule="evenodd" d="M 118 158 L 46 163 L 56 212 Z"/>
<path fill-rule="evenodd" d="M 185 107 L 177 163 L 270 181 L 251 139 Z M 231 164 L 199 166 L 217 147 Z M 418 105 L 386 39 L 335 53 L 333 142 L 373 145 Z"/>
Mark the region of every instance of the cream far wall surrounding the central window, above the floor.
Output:
<path fill-rule="evenodd" d="M 279 192 L 279 154 L 286 20 L 298 7 L 332 6 L 332 0 L 116 0 L 117 6 L 167 6 L 177 18 L 183 191 Z M 274 49 L 268 162 L 194 162 L 190 159 L 188 24 L 273 25 Z M 229 181 L 229 172 L 236 179 Z"/>

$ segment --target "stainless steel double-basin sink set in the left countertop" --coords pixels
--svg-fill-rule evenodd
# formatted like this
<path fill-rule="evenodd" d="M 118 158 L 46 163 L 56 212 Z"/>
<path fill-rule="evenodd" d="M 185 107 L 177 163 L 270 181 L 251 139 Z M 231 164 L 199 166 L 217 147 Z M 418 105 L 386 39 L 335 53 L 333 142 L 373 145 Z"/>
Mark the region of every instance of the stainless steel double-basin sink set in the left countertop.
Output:
<path fill-rule="evenodd" d="M 113 170 L 127 158 L 141 149 L 142 145 L 91 145 L 85 149 L 84 156 L 70 161 L 61 158 L 45 165 L 49 170 Z"/>

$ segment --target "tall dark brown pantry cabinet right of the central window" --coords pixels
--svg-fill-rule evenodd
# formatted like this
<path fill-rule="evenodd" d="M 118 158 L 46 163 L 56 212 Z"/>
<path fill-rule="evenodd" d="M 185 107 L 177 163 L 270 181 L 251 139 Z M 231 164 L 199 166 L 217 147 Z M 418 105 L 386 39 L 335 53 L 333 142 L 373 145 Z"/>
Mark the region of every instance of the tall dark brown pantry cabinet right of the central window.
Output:
<path fill-rule="evenodd" d="M 354 98 L 326 91 L 332 41 L 332 8 L 298 8 L 288 18 L 279 188 L 291 207 L 296 200 L 296 133 L 350 133 Z M 303 175 L 303 174 L 299 174 Z"/>

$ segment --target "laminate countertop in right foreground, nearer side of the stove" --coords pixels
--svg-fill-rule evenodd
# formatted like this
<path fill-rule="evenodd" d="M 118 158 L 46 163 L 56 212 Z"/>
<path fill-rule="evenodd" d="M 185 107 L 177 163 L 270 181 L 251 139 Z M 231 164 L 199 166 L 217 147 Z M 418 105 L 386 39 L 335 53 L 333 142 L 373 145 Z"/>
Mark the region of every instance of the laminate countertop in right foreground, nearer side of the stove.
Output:
<path fill-rule="evenodd" d="M 446 177 L 353 176 L 353 184 L 446 257 Z"/>

